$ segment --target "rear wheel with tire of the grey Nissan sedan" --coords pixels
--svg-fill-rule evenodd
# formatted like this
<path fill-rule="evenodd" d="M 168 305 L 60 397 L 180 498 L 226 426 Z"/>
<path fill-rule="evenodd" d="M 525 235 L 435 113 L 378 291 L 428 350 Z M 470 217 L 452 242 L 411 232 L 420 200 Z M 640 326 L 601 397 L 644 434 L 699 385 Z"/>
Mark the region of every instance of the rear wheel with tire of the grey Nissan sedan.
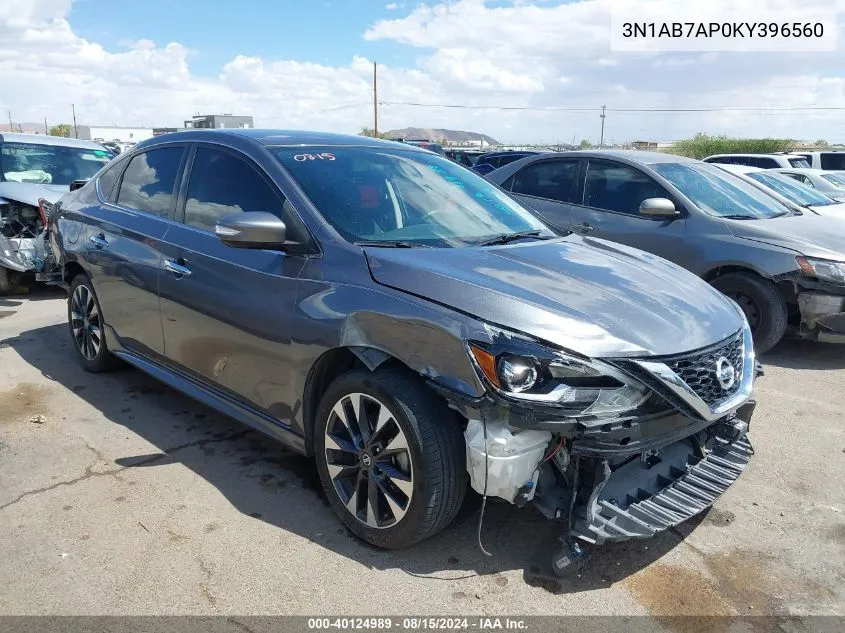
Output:
<path fill-rule="evenodd" d="M 100 302 L 86 275 L 79 274 L 70 283 L 67 320 L 76 358 L 86 371 L 100 373 L 120 366 L 106 347 Z"/>

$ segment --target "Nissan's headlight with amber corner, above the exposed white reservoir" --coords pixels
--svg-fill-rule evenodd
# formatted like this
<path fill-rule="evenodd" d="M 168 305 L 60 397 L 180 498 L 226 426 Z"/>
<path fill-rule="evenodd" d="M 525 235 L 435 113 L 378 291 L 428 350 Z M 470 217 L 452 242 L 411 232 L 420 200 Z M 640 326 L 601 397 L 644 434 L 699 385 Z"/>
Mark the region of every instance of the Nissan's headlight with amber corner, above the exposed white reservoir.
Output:
<path fill-rule="evenodd" d="M 558 407 L 573 417 L 617 417 L 639 407 L 651 393 L 607 363 L 488 329 L 493 344 L 470 342 L 469 353 L 487 382 L 506 398 Z"/>

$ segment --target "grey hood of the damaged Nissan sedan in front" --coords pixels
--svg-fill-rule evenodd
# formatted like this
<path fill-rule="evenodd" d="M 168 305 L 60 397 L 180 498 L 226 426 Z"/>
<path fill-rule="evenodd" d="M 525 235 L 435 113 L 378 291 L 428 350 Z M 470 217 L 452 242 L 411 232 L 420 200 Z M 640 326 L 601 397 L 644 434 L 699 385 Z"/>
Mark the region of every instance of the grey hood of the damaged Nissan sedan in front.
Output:
<path fill-rule="evenodd" d="M 692 273 L 604 240 L 364 250 L 379 284 L 584 356 L 678 354 L 742 327 L 733 303 Z"/>

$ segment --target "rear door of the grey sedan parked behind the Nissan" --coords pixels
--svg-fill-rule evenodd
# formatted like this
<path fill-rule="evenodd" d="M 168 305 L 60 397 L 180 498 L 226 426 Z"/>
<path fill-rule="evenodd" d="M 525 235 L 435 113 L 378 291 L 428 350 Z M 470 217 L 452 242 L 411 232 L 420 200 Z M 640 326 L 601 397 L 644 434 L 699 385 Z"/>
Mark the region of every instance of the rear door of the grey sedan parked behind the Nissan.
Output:
<path fill-rule="evenodd" d="M 547 224 L 559 232 L 570 230 L 572 203 L 578 193 L 578 158 L 544 158 L 516 172 L 506 189 L 516 194 Z"/>

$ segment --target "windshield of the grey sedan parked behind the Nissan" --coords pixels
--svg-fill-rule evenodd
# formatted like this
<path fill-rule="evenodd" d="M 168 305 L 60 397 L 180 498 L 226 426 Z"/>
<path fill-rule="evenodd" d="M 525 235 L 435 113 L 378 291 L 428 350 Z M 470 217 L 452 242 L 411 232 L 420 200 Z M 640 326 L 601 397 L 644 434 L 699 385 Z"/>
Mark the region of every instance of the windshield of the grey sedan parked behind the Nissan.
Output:
<path fill-rule="evenodd" d="M 710 215 L 752 220 L 791 213 L 767 193 L 715 165 L 657 163 L 652 168 Z"/>

